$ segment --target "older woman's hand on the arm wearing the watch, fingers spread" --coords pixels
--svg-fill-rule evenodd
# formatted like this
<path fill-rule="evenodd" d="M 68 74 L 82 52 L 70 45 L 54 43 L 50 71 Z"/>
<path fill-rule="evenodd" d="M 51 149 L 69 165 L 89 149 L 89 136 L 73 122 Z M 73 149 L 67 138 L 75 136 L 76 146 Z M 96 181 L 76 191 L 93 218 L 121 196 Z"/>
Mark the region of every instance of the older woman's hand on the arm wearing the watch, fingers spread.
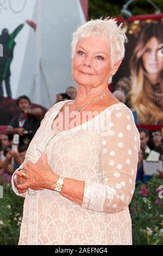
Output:
<path fill-rule="evenodd" d="M 43 151 L 40 159 L 36 163 L 27 161 L 23 166 L 23 172 L 20 173 L 16 171 L 15 174 L 22 176 L 24 172 L 26 176 L 23 175 L 23 177 L 26 178 L 27 181 L 22 185 L 18 185 L 20 190 L 28 187 L 44 187 L 49 190 L 54 190 L 58 175 L 54 174 L 52 169 L 48 166 L 46 151 Z"/>

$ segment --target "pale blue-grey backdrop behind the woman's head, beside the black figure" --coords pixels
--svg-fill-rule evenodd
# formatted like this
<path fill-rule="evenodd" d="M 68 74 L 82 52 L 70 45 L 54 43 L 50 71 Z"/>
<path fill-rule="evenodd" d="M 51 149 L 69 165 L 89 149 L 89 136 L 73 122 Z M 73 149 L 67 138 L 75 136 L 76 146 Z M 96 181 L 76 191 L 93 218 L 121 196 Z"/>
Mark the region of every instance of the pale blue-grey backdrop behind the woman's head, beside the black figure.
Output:
<path fill-rule="evenodd" d="M 34 32 L 24 25 L 15 38 L 12 97 L 26 94 L 32 102 L 48 108 L 57 93 L 75 86 L 71 40 L 74 29 L 85 22 L 82 5 L 79 0 L 14 0 L 14 8 L 20 8 L 20 12 L 14 13 L 7 5 L 5 9 L 1 7 L 1 30 L 7 27 L 11 33 L 26 20 L 34 21 L 37 28 Z"/>

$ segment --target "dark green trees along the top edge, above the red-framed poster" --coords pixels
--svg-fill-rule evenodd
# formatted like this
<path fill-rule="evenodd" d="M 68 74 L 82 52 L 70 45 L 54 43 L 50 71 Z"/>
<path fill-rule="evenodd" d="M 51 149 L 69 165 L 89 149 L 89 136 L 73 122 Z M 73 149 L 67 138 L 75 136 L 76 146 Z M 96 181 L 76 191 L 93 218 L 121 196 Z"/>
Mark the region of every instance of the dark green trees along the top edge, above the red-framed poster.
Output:
<path fill-rule="evenodd" d="M 89 0 L 89 17 L 98 18 L 101 16 L 117 17 L 121 16 L 121 9 L 123 4 L 126 4 L 126 0 Z M 157 7 L 163 11 L 163 1 L 153 0 Z M 128 7 L 133 15 L 140 14 L 153 14 L 155 12 L 154 7 L 146 0 L 135 0 Z"/>

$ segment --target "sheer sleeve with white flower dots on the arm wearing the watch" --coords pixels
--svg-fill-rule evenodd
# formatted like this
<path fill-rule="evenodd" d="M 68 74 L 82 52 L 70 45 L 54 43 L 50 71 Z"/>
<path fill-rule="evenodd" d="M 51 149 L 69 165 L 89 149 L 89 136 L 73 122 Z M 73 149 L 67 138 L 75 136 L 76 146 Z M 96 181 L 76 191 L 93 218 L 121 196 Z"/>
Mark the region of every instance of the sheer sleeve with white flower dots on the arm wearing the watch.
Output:
<path fill-rule="evenodd" d="M 108 113 L 104 127 L 101 132 L 103 182 L 85 181 L 82 207 L 114 213 L 126 209 L 133 196 L 140 136 L 133 114 L 125 105 Z"/>

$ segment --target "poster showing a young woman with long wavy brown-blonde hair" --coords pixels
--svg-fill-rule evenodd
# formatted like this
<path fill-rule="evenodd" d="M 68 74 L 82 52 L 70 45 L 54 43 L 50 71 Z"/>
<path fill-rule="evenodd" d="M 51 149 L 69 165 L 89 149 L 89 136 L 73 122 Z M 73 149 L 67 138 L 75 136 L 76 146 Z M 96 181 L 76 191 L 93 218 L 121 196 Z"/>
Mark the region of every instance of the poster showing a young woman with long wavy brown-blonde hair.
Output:
<path fill-rule="evenodd" d="M 138 124 L 163 124 L 163 19 L 123 25 L 128 43 L 112 80 L 114 91 L 136 111 Z"/>

